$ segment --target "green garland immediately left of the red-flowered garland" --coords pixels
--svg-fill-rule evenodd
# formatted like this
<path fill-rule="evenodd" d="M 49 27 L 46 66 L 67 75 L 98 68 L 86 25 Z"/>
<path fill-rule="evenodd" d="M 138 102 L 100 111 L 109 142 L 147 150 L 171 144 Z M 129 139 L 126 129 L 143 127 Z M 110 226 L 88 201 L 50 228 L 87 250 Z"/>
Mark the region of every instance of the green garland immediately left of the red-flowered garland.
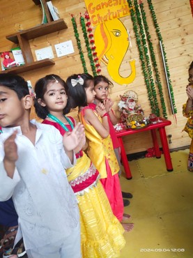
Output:
<path fill-rule="evenodd" d="M 90 63 L 91 63 L 91 69 L 93 71 L 93 76 L 96 76 L 97 73 L 96 73 L 96 70 L 95 70 L 95 62 L 93 61 L 93 54 L 92 54 L 91 47 L 89 46 L 89 40 L 88 40 L 87 31 L 86 31 L 86 24 L 85 24 L 84 17 L 82 17 L 82 15 L 80 17 L 80 24 L 82 26 L 82 32 L 83 32 L 84 41 L 85 41 L 85 44 L 86 44 L 86 49 L 87 49 L 87 52 L 88 52 L 88 59 L 90 60 Z M 95 54 L 97 54 L 97 53 L 95 53 Z"/>

